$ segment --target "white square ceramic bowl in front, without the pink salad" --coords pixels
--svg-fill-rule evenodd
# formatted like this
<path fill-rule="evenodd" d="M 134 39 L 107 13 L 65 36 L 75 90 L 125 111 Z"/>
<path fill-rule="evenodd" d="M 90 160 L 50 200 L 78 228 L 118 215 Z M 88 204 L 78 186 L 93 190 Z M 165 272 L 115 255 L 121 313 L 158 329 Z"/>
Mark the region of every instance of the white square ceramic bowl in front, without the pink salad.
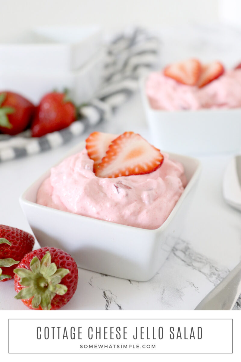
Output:
<path fill-rule="evenodd" d="M 85 144 L 80 144 L 68 156 L 84 147 Z M 102 221 L 36 204 L 39 186 L 50 175 L 48 170 L 20 197 L 21 207 L 41 247 L 63 249 L 73 256 L 80 268 L 137 281 L 152 278 L 171 251 L 168 236 L 180 234 L 191 191 L 201 170 L 197 159 L 169 155 L 184 165 L 188 184 L 167 220 L 155 230 Z"/>

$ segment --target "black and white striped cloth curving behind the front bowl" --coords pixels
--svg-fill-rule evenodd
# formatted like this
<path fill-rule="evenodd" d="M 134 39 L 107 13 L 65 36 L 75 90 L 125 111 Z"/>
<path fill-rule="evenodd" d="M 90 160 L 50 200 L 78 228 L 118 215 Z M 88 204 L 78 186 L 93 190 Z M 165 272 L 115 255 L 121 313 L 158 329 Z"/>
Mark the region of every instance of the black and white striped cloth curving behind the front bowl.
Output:
<path fill-rule="evenodd" d="M 159 39 L 144 29 L 115 37 L 107 49 L 102 87 L 95 99 L 79 108 L 81 118 L 40 138 L 31 138 L 29 130 L 12 137 L 0 135 L 0 162 L 59 147 L 109 118 L 137 90 L 139 77 L 157 63 L 158 55 Z"/>

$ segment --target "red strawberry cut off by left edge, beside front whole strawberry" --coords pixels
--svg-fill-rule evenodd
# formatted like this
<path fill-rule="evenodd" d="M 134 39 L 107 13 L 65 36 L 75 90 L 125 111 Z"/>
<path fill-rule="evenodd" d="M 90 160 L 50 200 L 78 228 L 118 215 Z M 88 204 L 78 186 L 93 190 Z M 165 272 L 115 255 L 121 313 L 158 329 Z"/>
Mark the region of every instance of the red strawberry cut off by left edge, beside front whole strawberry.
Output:
<path fill-rule="evenodd" d="M 34 237 L 26 231 L 0 225 L 0 281 L 14 278 L 13 269 L 33 250 Z"/>

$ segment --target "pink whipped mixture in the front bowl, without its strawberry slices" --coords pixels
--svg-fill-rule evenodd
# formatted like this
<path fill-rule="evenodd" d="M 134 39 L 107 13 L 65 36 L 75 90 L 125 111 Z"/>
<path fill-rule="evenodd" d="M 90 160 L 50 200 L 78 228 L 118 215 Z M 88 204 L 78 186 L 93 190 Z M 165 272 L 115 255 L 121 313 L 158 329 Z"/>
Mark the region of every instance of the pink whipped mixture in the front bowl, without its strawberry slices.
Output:
<path fill-rule="evenodd" d="M 161 226 L 186 185 L 183 166 L 169 160 L 156 171 L 116 178 L 96 177 L 83 150 L 51 169 L 37 203 L 74 214 L 145 229 Z"/>

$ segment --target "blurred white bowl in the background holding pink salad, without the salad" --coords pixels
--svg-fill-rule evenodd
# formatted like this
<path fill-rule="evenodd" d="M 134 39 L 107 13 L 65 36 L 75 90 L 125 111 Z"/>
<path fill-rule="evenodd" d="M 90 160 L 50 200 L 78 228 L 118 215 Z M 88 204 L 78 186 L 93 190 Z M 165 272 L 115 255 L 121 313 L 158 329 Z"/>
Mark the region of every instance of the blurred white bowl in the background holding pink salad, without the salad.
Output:
<path fill-rule="evenodd" d="M 241 108 L 156 110 L 140 81 L 143 106 L 153 143 L 161 150 L 209 155 L 241 149 Z"/>

